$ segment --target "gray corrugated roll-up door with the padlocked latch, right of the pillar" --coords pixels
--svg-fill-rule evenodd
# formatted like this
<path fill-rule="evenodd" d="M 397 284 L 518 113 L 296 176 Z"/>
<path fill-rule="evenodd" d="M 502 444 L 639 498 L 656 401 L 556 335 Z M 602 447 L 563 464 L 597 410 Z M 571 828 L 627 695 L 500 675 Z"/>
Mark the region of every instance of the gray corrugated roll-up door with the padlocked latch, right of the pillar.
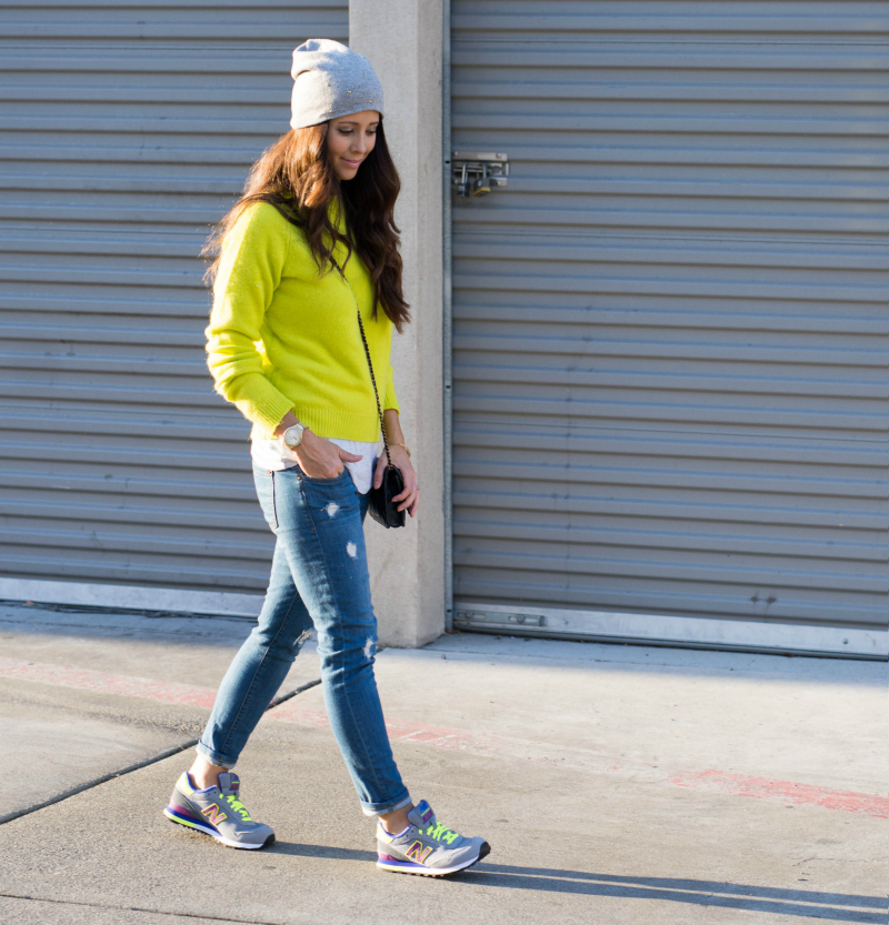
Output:
<path fill-rule="evenodd" d="M 879 656 L 880 2 L 455 0 L 455 623 Z"/>

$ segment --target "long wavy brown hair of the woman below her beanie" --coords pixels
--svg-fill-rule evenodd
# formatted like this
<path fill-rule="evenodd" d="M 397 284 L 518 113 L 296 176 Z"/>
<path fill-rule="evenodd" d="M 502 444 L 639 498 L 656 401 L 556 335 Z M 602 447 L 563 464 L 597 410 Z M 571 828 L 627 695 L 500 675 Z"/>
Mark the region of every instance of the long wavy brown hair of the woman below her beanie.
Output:
<path fill-rule="evenodd" d="M 373 318 L 377 318 L 377 305 L 381 304 L 401 333 L 410 321 L 410 306 L 401 289 L 400 238 L 394 223 L 401 181 L 386 144 L 382 118 L 373 150 L 354 178 L 346 181 L 340 181 L 333 172 L 327 155 L 328 127 L 328 122 L 322 122 L 291 129 L 262 152 L 250 169 L 241 198 L 213 227 L 201 252 L 212 261 L 206 279 L 210 284 L 216 279 L 221 244 L 243 210 L 253 202 L 268 202 L 306 232 L 321 275 L 333 269 L 332 242 L 339 241 L 347 248 L 346 263 L 354 247 L 373 281 Z M 343 205 L 351 240 L 333 227 L 328 215 L 328 205 L 336 197 Z M 326 240 L 331 242 L 330 247 Z"/>

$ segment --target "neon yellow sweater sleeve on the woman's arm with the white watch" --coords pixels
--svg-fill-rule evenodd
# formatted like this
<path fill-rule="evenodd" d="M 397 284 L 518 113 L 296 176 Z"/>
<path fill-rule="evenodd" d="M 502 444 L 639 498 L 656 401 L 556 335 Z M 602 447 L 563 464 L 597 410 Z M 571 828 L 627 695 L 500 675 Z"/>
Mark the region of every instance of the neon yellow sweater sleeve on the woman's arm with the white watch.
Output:
<path fill-rule="evenodd" d="M 207 365 L 216 391 L 271 438 L 293 402 L 266 378 L 260 328 L 281 281 L 287 229 L 274 207 L 249 207 L 226 237 L 213 285 Z"/>

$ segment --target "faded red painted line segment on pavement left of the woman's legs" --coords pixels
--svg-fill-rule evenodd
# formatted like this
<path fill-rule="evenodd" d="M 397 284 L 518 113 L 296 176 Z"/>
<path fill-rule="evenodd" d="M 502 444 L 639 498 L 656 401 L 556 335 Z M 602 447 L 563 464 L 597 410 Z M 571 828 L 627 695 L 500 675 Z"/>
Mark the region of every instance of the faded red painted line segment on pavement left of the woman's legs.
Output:
<path fill-rule="evenodd" d="M 0 677 L 14 677 L 19 681 L 52 684 L 56 687 L 74 687 L 78 691 L 144 697 L 161 703 L 181 703 L 208 708 L 216 700 L 216 691 L 211 687 L 150 681 L 147 677 L 128 677 L 110 672 L 48 665 L 41 662 L 18 662 L 12 658 L 0 658 Z"/>

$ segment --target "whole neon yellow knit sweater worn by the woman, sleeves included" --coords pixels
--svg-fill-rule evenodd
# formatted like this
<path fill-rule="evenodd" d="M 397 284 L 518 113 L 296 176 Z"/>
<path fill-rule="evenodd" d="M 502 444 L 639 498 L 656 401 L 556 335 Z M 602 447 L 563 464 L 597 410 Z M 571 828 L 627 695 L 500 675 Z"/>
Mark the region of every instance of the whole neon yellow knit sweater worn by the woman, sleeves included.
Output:
<path fill-rule="evenodd" d="M 333 255 L 342 267 L 346 248 L 338 244 Z M 244 210 L 226 235 L 204 332 L 216 391 L 253 422 L 251 438 L 273 436 L 292 410 L 319 436 L 377 441 L 380 421 L 356 299 L 383 410 L 398 410 L 392 322 L 381 308 L 371 320 L 370 273 L 354 251 L 346 265 L 354 299 L 337 270 L 318 273 L 304 233 L 273 205 Z"/>

